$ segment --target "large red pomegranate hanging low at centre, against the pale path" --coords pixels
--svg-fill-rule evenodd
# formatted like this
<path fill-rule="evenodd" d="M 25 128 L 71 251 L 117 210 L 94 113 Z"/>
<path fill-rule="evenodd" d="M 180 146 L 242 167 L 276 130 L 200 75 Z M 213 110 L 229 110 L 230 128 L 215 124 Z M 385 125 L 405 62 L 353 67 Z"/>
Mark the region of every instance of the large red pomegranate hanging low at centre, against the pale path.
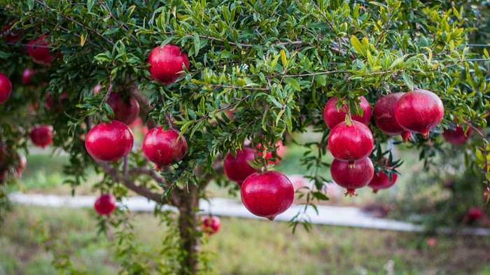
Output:
<path fill-rule="evenodd" d="M 251 174 L 241 185 L 240 193 L 248 211 L 269 220 L 286 211 L 294 199 L 293 184 L 276 171 Z"/>

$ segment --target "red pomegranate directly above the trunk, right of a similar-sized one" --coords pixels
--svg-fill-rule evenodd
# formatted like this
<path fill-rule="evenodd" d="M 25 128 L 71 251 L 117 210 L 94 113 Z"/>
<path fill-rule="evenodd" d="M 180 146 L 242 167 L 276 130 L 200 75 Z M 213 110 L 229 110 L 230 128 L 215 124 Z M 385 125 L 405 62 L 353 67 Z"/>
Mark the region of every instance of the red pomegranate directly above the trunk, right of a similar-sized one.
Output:
<path fill-rule="evenodd" d="M 170 129 L 164 130 L 163 127 L 151 129 L 146 134 L 143 141 L 143 153 L 146 158 L 155 163 L 155 169 L 160 170 L 162 166 L 179 162 L 187 151 L 186 138 L 179 137 L 179 131 Z"/>

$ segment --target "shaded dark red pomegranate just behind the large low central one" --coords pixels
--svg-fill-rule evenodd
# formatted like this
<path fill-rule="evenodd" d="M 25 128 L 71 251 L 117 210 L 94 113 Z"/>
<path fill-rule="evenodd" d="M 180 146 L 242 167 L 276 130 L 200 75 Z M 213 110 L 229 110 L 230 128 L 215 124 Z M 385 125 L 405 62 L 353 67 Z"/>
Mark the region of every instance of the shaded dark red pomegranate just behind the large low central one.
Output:
<path fill-rule="evenodd" d="M 259 170 L 248 164 L 248 161 L 253 162 L 255 160 L 255 150 L 241 148 L 241 150 L 237 150 L 236 154 L 237 157 L 233 157 L 231 153 L 226 155 L 223 168 L 225 169 L 225 175 L 230 181 L 235 181 L 240 185 L 248 176 L 257 173 Z"/>

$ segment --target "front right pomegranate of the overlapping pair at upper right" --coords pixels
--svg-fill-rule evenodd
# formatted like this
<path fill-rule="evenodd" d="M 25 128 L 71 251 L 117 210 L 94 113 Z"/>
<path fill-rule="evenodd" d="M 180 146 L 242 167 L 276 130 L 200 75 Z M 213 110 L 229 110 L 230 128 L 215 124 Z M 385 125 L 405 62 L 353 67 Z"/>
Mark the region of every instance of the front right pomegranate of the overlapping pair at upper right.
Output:
<path fill-rule="evenodd" d="M 428 136 L 444 117 L 444 106 L 436 94 L 428 90 L 407 92 L 398 99 L 395 118 L 405 130 Z"/>

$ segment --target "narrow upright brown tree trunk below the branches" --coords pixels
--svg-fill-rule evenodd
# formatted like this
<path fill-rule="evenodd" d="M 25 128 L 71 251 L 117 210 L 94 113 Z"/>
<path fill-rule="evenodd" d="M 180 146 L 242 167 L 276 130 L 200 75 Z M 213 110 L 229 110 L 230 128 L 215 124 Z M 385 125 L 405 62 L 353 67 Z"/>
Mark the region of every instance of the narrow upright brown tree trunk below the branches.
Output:
<path fill-rule="evenodd" d="M 197 275 L 198 253 L 200 244 L 197 234 L 199 223 L 196 211 L 199 209 L 199 191 L 197 186 L 188 185 L 188 191 L 181 191 L 179 202 L 179 230 L 182 241 L 183 258 L 181 259 L 182 275 Z"/>

